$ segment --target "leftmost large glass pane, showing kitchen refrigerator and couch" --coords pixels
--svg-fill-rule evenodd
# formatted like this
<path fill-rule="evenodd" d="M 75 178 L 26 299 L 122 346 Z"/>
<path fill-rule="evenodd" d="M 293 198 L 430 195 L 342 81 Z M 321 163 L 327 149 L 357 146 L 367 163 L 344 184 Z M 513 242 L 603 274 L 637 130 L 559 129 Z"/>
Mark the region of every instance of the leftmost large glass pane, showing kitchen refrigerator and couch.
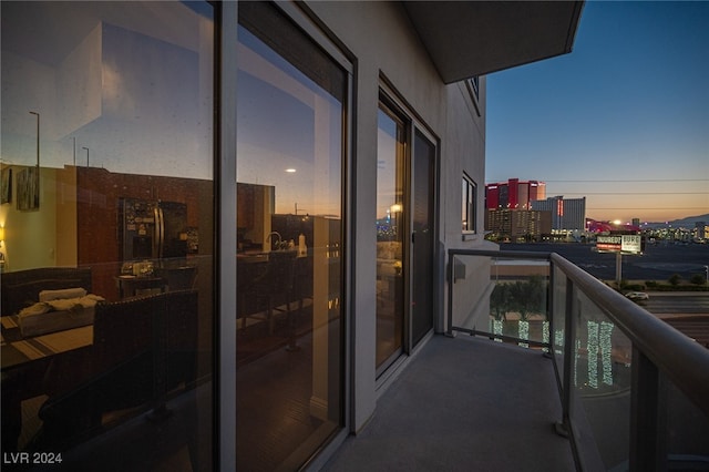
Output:
<path fill-rule="evenodd" d="M 212 468 L 213 41 L 206 2 L 2 3 L 4 454 Z"/>

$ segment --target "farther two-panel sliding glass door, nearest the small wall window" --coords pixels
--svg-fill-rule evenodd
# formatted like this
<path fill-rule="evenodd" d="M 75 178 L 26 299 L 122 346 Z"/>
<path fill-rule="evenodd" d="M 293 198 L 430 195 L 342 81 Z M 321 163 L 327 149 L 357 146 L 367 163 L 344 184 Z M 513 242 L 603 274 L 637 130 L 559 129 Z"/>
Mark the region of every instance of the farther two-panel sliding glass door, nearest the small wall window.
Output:
<path fill-rule="evenodd" d="M 377 137 L 377 374 L 433 328 L 434 140 L 387 96 Z"/>

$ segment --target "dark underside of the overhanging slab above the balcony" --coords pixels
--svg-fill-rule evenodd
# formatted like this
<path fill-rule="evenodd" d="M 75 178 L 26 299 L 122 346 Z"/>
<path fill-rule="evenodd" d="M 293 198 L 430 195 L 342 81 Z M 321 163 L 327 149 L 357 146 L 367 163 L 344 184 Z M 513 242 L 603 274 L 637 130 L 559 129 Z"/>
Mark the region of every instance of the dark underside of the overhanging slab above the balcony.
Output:
<path fill-rule="evenodd" d="M 404 1 L 443 82 L 572 51 L 583 1 Z"/>

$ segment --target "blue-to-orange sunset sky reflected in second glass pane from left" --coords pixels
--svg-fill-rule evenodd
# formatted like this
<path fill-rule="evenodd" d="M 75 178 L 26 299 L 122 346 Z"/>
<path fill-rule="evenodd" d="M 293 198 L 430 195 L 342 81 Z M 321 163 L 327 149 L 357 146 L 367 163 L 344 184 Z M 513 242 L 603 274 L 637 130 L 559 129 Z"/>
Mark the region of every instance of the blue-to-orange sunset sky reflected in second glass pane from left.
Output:
<path fill-rule="evenodd" d="M 273 185 L 276 213 L 339 217 L 342 104 L 244 28 L 238 57 L 237 181 Z"/>

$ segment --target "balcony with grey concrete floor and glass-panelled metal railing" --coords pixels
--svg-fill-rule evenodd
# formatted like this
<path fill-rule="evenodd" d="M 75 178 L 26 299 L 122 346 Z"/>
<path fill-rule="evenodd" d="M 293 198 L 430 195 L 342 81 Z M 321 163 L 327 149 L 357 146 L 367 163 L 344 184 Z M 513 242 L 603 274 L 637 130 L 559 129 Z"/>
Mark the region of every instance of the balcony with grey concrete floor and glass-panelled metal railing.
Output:
<path fill-rule="evenodd" d="M 325 470 L 709 470 L 708 349 L 556 254 L 449 260 L 449 336 Z"/>

